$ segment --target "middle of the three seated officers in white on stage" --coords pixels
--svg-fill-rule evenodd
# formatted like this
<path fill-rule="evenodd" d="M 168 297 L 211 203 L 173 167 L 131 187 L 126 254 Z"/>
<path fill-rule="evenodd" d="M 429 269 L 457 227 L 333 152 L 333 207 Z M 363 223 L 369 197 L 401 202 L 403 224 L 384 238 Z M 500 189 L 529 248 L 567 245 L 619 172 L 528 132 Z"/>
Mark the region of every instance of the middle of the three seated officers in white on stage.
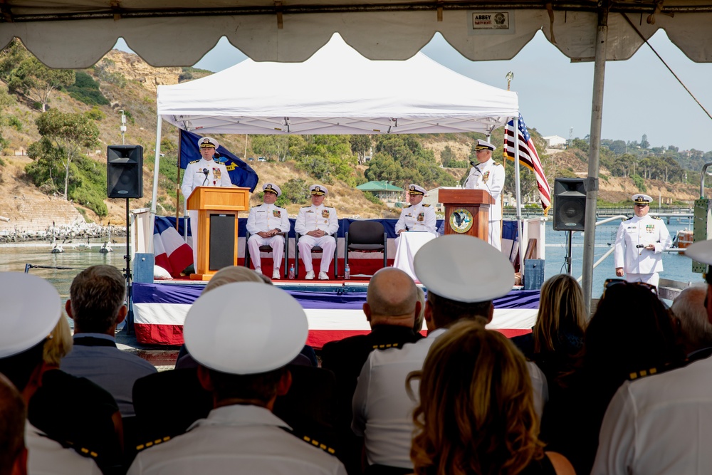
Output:
<path fill-rule="evenodd" d="M 329 190 L 323 184 L 313 184 L 309 187 L 312 204 L 299 210 L 294 223 L 294 231 L 302 236 L 299 238 L 299 256 L 307 271 L 305 279 L 314 278 L 314 267 L 311 259 L 311 249 L 319 246 L 323 249 L 319 279 L 329 280 L 329 267 L 336 250 L 336 231 L 339 230 L 339 219 L 336 209 L 325 207 L 324 198 Z M 334 276 L 336 277 L 336 276 Z"/>

